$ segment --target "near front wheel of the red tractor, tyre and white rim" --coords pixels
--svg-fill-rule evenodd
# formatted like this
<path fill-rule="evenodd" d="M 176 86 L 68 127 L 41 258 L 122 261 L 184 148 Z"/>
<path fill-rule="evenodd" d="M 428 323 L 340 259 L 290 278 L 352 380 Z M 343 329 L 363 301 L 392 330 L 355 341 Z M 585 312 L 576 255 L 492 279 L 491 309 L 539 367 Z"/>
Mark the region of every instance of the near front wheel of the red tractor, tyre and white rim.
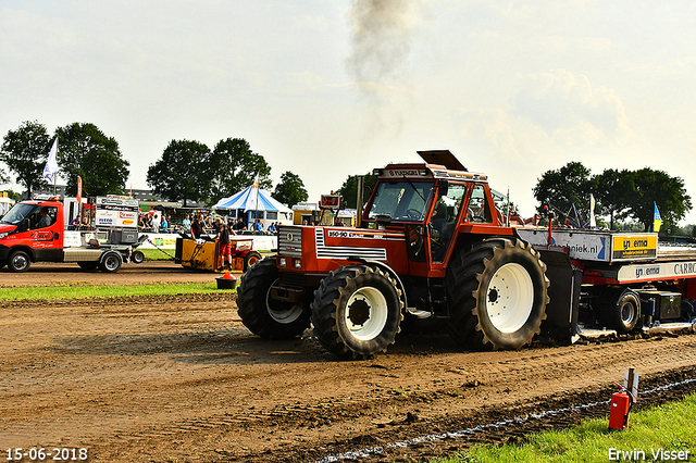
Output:
<path fill-rule="evenodd" d="M 371 358 L 394 343 L 402 306 L 401 291 L 389 275 L 365 265 L 343 266 L 314 292 L 314 336 L 339 358 Z"/>

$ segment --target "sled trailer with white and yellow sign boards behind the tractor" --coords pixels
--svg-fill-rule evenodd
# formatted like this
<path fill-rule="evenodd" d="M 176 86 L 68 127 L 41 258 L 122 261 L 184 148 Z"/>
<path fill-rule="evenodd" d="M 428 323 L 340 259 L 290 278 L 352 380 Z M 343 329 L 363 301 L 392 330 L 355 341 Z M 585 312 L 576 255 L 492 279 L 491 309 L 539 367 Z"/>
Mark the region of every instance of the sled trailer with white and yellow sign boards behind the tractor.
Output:
<path fill-rule="evenodd" d="M 548 227 L 520 227 L 517 234 L 549 261 L 551 253 L 567 254 L 566 265 L 574 272 L 575 301 L 557 293 L 548 311 L 563 313 L 554 305 L 568 304 L 570 323 L 558 330 L 557 321 L 549 333 L 573 339 L 584 325 L 627 334 L 695 317 L 696 251 L 691 248 L 661 247 L 656 233 L 551 227 L 549 234 Z M 551 288 L 563 287 L 566 278 L 549 272 Z"/>

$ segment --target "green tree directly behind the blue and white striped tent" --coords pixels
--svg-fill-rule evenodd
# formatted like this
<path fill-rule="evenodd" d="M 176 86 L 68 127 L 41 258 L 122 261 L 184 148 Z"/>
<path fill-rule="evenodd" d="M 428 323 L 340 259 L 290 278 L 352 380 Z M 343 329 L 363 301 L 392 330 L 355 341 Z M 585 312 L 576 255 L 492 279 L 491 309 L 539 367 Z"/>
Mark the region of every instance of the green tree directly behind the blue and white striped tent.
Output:
<path fill-rule="evenodd" d="M 214 204 L 220 199 L 241 191 L 259 175 L 259 188 L 270 189 L 271 166 L 261 154 L 251 151 L 244 138 L 220 140 L 213 149 L 207 166 L 210 185 L 208 202 Z"/>

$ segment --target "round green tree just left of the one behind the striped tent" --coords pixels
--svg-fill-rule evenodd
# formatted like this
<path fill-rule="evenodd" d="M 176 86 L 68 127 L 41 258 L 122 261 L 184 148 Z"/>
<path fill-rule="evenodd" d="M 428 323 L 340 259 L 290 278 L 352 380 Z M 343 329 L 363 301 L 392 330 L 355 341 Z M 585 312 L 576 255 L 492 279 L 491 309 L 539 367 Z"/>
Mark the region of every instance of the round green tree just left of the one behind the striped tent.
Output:
<path fill-rule="evenodd" d="M 147 183 L 169 201 L 204 200 L 210 188 L 210 149 L 191 140 L 172 140 L 154 164 L 148 167 Z"/>

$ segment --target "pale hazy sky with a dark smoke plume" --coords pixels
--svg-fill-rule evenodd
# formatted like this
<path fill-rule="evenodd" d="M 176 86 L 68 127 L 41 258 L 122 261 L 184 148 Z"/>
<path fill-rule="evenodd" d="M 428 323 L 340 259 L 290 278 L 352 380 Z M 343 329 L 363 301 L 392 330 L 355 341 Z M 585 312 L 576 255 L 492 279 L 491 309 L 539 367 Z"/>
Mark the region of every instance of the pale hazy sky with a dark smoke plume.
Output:
<path fill-rule="evenodd" d="M 137 189 L 171 140 L 244 138 L 310 201 L 449 149 L 523 216 L 571 161 L 664 171 L 696 205 L 695 20 L 684 0 L 0 0 L 0 136 L 92 123 Z"/>

